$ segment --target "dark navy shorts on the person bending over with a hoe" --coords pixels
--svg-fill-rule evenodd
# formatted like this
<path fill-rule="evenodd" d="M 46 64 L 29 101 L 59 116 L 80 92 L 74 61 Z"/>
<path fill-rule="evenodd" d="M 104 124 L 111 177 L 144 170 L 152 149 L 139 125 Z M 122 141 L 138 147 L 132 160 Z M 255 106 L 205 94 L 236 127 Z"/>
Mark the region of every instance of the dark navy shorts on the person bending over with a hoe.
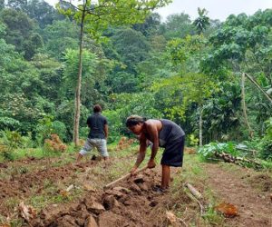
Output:
<path fill-rule="evenodd" d="M 183 163 L 185 136 L 171 143 L 166 143 L 165 150 L 162 153 L 160 164 L 180 167 Z"/>

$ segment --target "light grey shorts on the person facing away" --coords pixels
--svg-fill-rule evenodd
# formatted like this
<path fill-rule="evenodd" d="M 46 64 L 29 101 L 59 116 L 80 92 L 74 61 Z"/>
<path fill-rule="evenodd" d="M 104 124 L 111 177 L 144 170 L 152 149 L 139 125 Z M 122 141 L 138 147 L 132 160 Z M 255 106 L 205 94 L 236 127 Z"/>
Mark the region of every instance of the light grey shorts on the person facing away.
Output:
<path fill-rule="evenodd" d="M 80 154 L 84 155 L 88 152 L 91 152 L 94 147 L 97 148 L 98 152 L 100 152 L 103 157 L 109 157 L 109 153 L 107 151 L 107 141 L 105 139 L 88 138 L 83 145 Z"/>

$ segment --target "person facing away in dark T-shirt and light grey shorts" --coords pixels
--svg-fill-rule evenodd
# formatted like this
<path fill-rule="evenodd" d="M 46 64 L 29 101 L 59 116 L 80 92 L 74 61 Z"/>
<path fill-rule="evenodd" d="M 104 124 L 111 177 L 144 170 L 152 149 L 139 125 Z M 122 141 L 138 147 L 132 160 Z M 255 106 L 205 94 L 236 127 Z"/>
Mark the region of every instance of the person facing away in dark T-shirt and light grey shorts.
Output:
<path fill-rule="evenodd" d="M 91 152 L 94 147 L 101 153 L 103 159 L 106 161 L 109 159 L 109 153 L 107 151 L 107 138 L 108 138 L 108 122 L 107 119 L 102 116 L 102 107 L 99 104 L 93 106 L 93 114 L 88 117 L 87 124 L 90 128 L 88 138 L 77 156 L 77 163 L 88 152 Z"/>

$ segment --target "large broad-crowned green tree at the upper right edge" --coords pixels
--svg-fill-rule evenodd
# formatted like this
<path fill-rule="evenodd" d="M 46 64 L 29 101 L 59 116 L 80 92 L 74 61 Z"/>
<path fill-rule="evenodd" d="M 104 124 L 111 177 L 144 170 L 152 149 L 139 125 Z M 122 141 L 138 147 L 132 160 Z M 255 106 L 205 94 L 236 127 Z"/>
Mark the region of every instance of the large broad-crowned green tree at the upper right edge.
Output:
<path fill-rule="evenodd" d="M 271 16 L 271 9 L 263 12 L 257 11 L 255 15 L 251 16 L 229 15 L 220 29 L 210 35 L 210 52 L 201 63 L 202 70 L 207 74 L 219 74 L 220 77 L 224 75 L 225 78 L 228 78 L 229 74 L 233 74 L 232 72 L 237 76 L 245 73 L 248 82 L 255 86 L 253 88 L 252 84 L 245 84 L 246 101 L 252 100 L 252 97 L 255 99 L 257 90 L 260 94 L 264 94 L 262 102 L 260 100 L 248 102 L 248 114 L 251 109 L 259 116 L 263 114 L 264 110 L 264 108 L 259 108 L 260 105 L 271 106 L 271 98 L 266 92 L 272 86 Z M 246 108 L 245 105 L 244 108 Z M 257 119 L 261 118 L 257 117 Z M 254 118 L 248 117 L 249 123 L 253 120 Z M 265 120 L 263 119 L 263 123 Z M 254 131 L 258 130 L 261 133 L 263 129 L 260 125 L 263 123 L 255 123 L 251 127 Z"/>

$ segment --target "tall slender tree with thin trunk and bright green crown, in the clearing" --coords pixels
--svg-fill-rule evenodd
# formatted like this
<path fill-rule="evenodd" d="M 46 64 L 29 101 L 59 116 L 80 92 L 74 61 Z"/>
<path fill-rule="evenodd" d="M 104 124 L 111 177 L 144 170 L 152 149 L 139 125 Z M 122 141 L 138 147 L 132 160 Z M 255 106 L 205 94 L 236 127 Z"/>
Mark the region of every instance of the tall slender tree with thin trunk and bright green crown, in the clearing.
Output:
<path fill-rule="evenodd" d="M 83 0 L 79 5 L 61 1 L 57 8 L 64 15 L 73 16 L 80 25 L 79 67 L 75 91 L 75 113 L 73 121 L 73 142 L 79 143 L 79 120 L 81 105 L 81 85 L 83 71 L 84 31 L 99 39 L 109 25 L 129 25 L 142 22 L 152 9 L 167 5 L 171 0 Z"/>

